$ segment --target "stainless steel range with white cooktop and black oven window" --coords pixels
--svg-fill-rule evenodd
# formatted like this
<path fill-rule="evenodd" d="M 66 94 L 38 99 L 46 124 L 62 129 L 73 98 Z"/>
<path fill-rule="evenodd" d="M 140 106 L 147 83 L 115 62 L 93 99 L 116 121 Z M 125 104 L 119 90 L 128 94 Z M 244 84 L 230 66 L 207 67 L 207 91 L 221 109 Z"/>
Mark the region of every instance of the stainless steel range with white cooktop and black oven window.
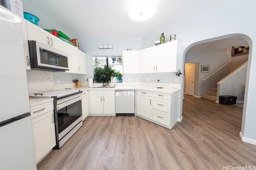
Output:
<path fill-rule="evenodd" d="M 56 90 L 30 97 L 54 98 L 56 148 L 60 149 L 82 126 L 82 91 Z"/>

